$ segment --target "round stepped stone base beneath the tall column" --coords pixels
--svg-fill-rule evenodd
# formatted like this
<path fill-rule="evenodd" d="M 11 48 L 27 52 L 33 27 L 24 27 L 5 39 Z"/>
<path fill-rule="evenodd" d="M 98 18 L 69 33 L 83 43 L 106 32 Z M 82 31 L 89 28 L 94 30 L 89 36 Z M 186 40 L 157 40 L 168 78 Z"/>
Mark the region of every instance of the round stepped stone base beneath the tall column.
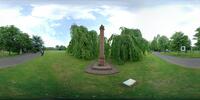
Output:
<path fill-rule="evenodd" d="M 104 66 L 99 66 L 98 62 L 90 64 L 85 71 L 90 74 L 99 75 L 109 75 L 119 72 L 112 64 L 106 63 Z"/>

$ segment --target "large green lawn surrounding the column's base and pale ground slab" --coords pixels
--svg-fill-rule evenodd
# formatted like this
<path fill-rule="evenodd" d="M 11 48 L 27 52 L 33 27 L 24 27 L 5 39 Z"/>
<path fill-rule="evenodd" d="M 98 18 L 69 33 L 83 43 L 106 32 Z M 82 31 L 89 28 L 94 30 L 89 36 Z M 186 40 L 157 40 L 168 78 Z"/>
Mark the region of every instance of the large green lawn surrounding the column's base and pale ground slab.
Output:
<path fill-rule="evenodd" d="M 143 61 L 116 66 L 118 74 L 99 76 L 84 72 L 90 62 L 48 51 L 32 61 L 0 69 L 0 98 L 200 98 L 200 69 L 183 68 L 150 54 Z M 123 86 L 128 78 L 136 79 L 136 85 Z"/>

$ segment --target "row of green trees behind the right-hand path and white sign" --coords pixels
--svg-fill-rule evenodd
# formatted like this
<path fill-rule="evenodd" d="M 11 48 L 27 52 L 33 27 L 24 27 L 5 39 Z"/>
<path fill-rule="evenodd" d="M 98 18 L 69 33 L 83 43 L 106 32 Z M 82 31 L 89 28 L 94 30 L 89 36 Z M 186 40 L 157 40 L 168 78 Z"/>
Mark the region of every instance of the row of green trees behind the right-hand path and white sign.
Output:
<path fill-rule="evenodd" d="M 194 39 L 197 40 L 194 48 L 200 50 L 200 28 L 196 29 Z M 181 46 L 186 47 L 186 52 L 191 50 L 191 40 L 183 32 L 175 32 L 170 39 L 166 36 L 157 35 L 151 42 L 150 48 L 153 51 L 181 51 Z"/>

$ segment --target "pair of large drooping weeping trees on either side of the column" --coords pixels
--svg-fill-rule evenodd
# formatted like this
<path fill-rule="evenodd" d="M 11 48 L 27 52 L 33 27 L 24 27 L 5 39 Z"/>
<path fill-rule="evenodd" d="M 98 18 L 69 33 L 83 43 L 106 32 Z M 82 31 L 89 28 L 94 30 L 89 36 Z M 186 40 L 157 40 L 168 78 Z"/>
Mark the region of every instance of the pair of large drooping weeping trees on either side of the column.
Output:
<path fill-rule="evenodd" d="M 104 37 L 106 58 L 111 58 L 119 64 L 126 61 L 138 61 L 150 49 L 150 43 L 142 37 L 139 29 L 121 27 L 120 35 Z M 80 59 L 95 59 L 99 54 L 99 37 L 94 30 L 88 31 L 84 26 L 72 25 L 71 41 L 67 51 Z"/>

